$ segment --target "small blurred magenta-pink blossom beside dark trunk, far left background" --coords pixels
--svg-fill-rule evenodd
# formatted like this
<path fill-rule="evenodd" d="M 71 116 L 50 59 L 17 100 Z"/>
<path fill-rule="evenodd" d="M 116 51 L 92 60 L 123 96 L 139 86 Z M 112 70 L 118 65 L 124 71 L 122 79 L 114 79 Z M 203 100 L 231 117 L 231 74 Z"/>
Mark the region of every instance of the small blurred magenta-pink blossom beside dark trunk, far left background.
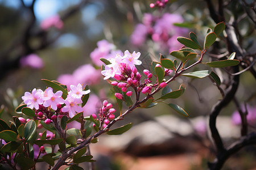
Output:
<path fill-rule="evenodd" d="M 28 56 L 20 59 L 20 66 L 31 67 L 33 69 L 42 69 L 44 67 L 44 62 L 38 55 L 29 54 Z"/>

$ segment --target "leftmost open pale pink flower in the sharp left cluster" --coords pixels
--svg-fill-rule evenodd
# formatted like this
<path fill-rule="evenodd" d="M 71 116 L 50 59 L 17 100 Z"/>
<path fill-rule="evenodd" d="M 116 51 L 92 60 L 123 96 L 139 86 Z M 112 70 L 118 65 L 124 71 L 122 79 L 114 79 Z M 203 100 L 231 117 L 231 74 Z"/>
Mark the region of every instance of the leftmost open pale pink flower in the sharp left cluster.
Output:
<path fill-rule="evenodd" d="M 38 110 L 39 104 L 43 104 L 43 100 L 40 98 L 42 94 L 42 90 L 36 90 L 34 88 L 31 94 L 30 92 L 25 92 L 24 96 L 22 96 L 22 100 L 24 100 L 24 103 L 27 104 L 28 108 L 35 108 L 36 110 Z"/>

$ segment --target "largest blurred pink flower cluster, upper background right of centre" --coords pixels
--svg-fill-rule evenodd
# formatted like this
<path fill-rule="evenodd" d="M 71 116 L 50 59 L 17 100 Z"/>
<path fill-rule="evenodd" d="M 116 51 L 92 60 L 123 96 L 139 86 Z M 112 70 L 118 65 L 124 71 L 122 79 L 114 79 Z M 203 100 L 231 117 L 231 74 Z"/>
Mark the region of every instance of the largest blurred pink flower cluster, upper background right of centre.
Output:
<path fill-rule="evenodd" d="M 142 23 L 135 26 L 130 41 L 135 46 L 144 44 L 148 36 L 154 42 L 157 42 L 159 49 L 168 49 L 169 52 L 182 47 L 182 44 L 176 41 L 178 36 L 187 34 L 187 28 L 181 28 L 174 23 L 182 23 L 184 20 L 178 14 L 165 13 L 162 17 L 154 17 L 151 14 L 144 14 Z"/>

